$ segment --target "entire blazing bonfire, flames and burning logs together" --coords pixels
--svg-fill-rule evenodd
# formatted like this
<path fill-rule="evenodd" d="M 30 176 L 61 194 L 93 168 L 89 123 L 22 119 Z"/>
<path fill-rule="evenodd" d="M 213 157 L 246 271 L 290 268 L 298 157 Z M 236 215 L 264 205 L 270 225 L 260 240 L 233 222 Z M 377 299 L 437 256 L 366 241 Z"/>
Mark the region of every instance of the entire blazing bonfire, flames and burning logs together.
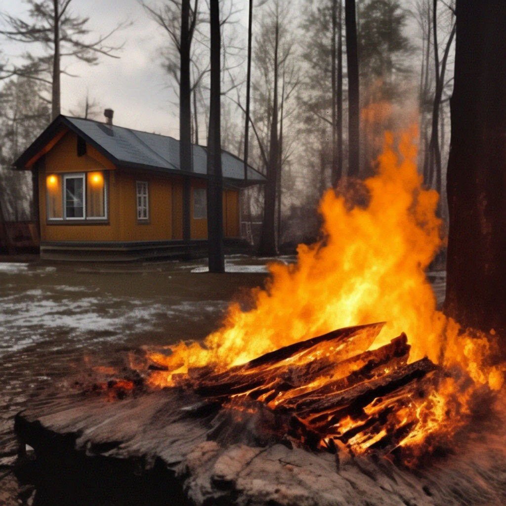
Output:
<path fill-rule="evenodd" d="M 296 265 L 270 264 L 254 309 L 231 305 L 223 327 L 203 345 L 151 354 L 167 369 L 153 371 L 151 385 L 187 382 L 207 396 L 222 388 L 230 406 L 252 398 L 288 410 L 317 434 L 320 447 L 340 442 L 354 453 L 399 447 L 416 453 L 465 424 L 473 394 L 500 389 L 503 368 L 490 363 L 493 345 L 484 335 L 462 332 L 436 311 L 425 270 L 442 244 L 438 195 L 422 187 L 416 134 L 400 137 L 400 154 L 387 134 L 375 176 L 346 195 L 325 193 L 324 238 L 301 244 Z M 325 338 L 274 362 L 253 360 L 375 321 L 387 323 Z"/>

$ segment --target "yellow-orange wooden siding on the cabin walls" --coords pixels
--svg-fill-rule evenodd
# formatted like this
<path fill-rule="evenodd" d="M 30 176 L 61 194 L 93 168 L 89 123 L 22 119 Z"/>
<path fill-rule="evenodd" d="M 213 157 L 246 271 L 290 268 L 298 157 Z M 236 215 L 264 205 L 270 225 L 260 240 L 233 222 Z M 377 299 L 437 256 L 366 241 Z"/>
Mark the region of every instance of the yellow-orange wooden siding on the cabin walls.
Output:
<path fill-rule="evenodd" d="M 39 164 L 40 236 L 42 241 L 164 241 L 183 238 L 183 179 L 147 171 L 126 171 L 115 167 L 95 148 L 87 145 L 77 156 L 77 136 L 67 132 Z M 50 174 L 107 171 L 108 219 L 105 223 L 47 221 L 46 178 Z M 146 181 L 149 219 L 137 219 L 136 181 Z M 207 238 L 207 220 L 193 218 L 193 189 L 205 188 L 202 179 L 191 182 L 191 238 Z M 239 236 L 239 194 L 224 190 L 223 220 L 226 237 Z"/>

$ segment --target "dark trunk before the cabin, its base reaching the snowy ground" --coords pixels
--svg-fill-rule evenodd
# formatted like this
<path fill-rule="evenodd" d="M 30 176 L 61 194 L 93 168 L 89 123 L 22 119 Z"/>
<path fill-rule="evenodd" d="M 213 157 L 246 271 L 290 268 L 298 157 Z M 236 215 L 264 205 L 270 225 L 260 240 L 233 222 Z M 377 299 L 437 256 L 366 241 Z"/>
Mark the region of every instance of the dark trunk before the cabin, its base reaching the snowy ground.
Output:
<path fill-rule="evenodd" d="M 210 0 L 211 90 L 207 140 L 207 244 L 209 272 L 225 272 L 223 251 L 223 177 L 221 162 L 220 0 Z"/>

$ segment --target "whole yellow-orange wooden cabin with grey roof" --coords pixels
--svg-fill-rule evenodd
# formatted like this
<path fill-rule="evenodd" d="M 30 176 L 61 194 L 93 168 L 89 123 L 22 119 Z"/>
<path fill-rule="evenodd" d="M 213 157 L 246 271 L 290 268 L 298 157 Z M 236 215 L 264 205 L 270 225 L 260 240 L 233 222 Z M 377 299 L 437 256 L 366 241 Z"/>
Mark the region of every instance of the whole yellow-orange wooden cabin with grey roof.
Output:
<path fill-rule="evenodd" d="M 58 116 L 15 162 L 31 170 L 40 255 L 136 259 L 202 250 L 207 238 L 206 148 L 89 119 Z M 223 227 L 239 239 L 241 189 L 262 174 L 222 151 Z M 38 215 L 38 216 L 37 216 Z"/>

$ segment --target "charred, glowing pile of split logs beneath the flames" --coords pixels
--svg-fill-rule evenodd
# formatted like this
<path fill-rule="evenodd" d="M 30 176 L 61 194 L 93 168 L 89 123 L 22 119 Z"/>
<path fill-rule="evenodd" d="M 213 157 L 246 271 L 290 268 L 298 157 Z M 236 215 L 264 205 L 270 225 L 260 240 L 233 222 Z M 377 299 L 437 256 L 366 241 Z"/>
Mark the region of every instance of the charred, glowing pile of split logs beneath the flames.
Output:
<path fill-rule="evenodd" d="M 296 446 L 335 452 L 344 444 L 353 452 L 350 441 L 359 441 L 369 451 L 390 451 L 417 423 L 415 413 L 400 423 L 405 415 L 399 412 L 434 387 L 436 367 L 427 358 L 407 363 L 405 334 L 367 351 L 383 326 L 335 330 L 220 373 L 190 370 L 177 384 L 234 411 L 222 421 L 227 437 L 240 411 L 261 410 L 275 426 L 264 433 Z"/>

